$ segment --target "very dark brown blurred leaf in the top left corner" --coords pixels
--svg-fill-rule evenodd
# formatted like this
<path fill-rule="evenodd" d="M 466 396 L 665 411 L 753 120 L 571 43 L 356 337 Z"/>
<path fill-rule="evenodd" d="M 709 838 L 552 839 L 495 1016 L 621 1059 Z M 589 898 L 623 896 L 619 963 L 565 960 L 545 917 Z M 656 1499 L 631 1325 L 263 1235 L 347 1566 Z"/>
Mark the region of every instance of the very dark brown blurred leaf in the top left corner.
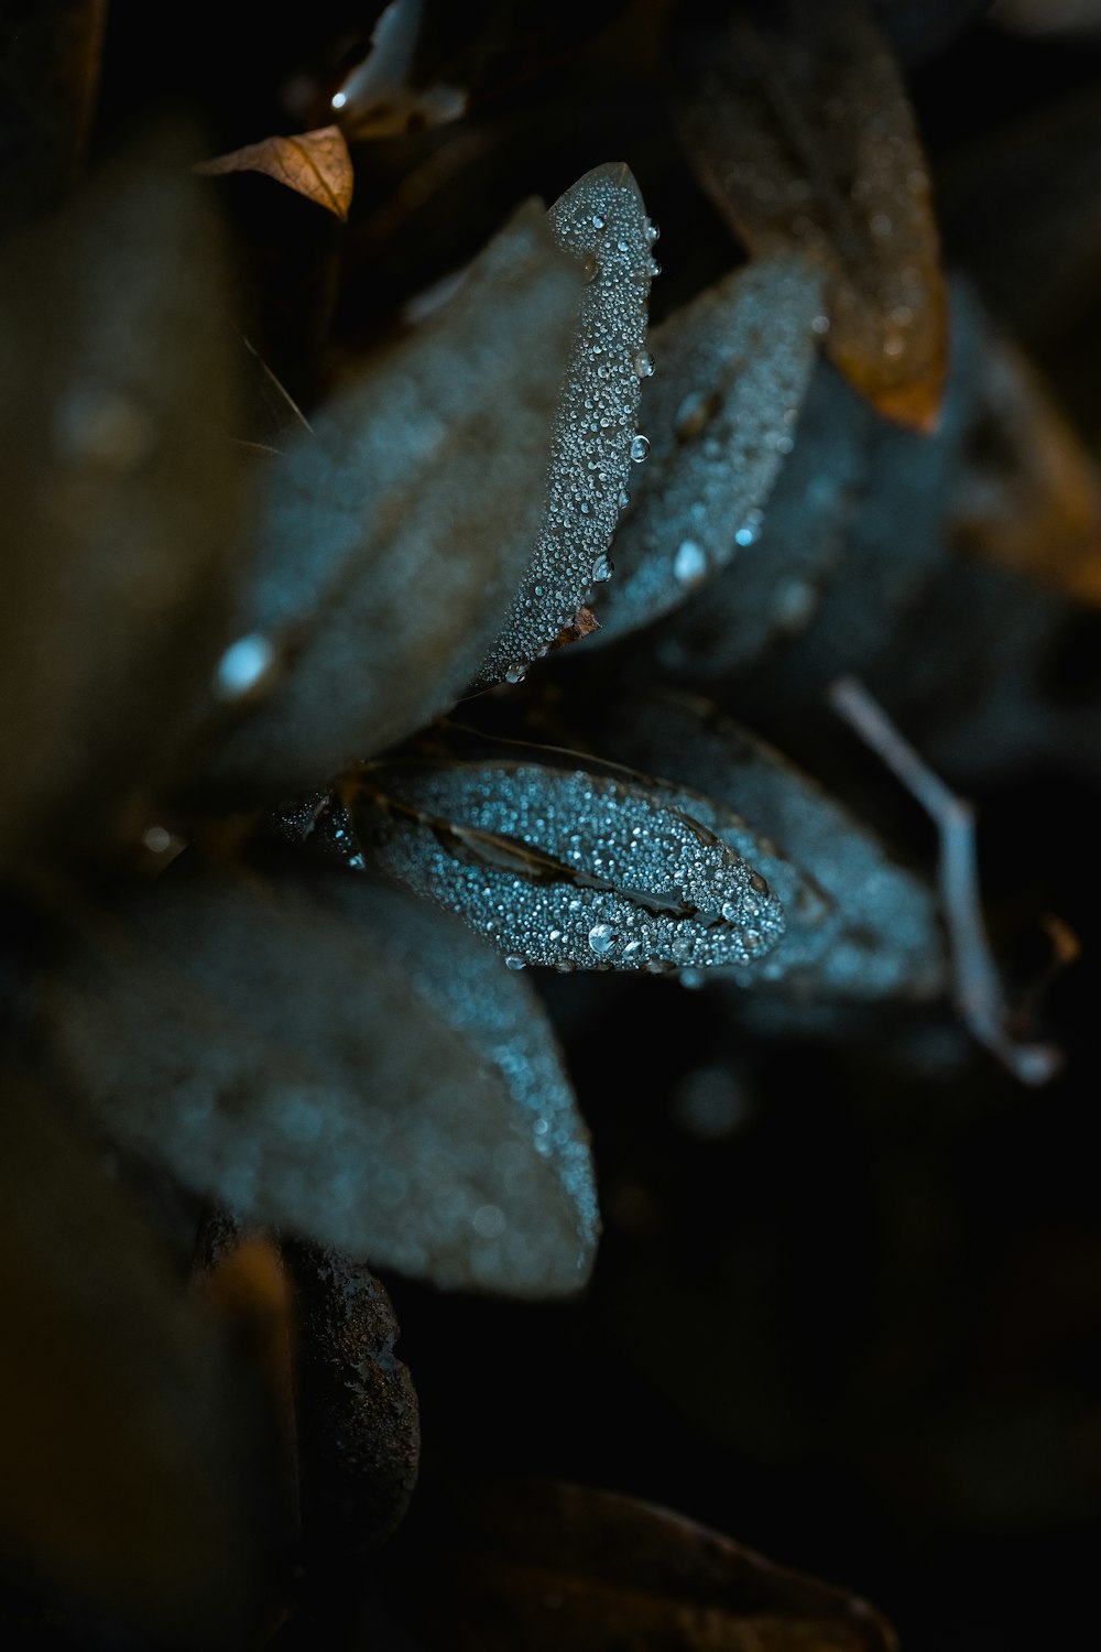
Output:
<path fill-rule="evenodd" d="M 0 25 L 0 236 L 76 182 L 99 76 L 106 0 L 5 7 Z"/>

